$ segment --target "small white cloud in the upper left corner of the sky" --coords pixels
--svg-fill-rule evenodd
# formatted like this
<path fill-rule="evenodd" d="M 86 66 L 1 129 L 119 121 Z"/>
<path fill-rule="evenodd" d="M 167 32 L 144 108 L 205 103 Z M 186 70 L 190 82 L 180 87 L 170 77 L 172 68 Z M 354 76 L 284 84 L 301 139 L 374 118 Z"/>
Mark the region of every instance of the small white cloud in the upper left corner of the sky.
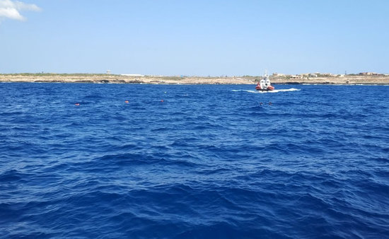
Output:
<path fill-rule="evenodd" d="M 25 4 L 21 1 L 0 0 L 0 19 L 11 18 L 25 21 L 20 11 L 40 11 L 40 8 L 35 4 Z"/>

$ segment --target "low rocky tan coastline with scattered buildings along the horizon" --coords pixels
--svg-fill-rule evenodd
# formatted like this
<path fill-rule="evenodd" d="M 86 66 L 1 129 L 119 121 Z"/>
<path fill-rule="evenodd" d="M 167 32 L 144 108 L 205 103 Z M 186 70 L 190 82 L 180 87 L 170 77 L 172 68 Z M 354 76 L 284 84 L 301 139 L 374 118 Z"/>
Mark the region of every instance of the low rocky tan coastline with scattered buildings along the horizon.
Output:
<path fill-rule="evenodd" d="M 146 83 L 146 84 L 254 84 L 262 76 L 143 76 L 138 74 L 0 74 L 0 82 L 38 83 Z M 298 74 L 274 73 L 274 84 L 373 84 L 389 85 L 389 74 Z"/>

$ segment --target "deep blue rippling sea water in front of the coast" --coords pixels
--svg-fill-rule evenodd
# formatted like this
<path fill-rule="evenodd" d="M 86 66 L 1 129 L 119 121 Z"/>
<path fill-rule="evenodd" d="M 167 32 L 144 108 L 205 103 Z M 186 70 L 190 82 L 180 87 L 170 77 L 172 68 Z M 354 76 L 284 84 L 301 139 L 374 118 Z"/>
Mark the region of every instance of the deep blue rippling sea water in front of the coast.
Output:
<path fill-rule="evenodd" d="M 389 86 L 253 88 L 0 83 L 0 238 L 389 238 Z"/>

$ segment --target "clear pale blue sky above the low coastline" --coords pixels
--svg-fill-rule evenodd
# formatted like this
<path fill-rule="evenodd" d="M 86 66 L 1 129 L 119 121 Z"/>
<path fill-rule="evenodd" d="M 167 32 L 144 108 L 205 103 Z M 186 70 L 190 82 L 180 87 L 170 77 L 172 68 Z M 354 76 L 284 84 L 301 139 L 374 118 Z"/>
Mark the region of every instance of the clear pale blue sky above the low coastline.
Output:
<path fill-rule="evenodd" d="M 388 0 L 0 0 L 0 74 L 388 74 L 388 13 Z"/>

